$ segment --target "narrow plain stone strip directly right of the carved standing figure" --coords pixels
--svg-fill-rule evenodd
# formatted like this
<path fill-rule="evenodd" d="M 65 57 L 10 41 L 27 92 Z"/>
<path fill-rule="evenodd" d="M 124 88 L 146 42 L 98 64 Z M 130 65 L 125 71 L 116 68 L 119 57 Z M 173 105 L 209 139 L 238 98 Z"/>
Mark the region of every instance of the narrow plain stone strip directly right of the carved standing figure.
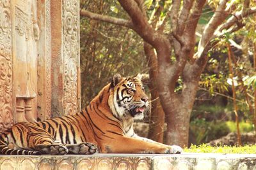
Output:
<path fill-rule="evenodd" d="M 38 120 L 51 118 L 51 0 L 37 1 L 38 39 Z"/>

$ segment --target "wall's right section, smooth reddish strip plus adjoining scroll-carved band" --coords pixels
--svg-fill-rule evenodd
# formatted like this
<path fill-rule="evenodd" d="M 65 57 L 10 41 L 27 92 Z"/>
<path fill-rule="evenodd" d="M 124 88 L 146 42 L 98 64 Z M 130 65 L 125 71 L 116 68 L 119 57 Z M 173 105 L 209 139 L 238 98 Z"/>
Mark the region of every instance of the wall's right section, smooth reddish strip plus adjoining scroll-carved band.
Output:
<path fill-rule="evenodd" d="M 52 113 L 80 111 L 79 1 L 51 1 Z"/>

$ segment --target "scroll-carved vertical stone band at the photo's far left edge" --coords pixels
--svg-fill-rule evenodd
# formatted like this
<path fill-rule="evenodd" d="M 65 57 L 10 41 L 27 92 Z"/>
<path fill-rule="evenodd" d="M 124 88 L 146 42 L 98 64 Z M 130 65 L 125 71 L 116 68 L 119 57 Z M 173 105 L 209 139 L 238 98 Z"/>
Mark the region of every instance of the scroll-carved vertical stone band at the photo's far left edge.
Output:
<path fill-rule="evenodd" d="M 0 0 L 0 132 L 13 124 L 10 1 Z"/>

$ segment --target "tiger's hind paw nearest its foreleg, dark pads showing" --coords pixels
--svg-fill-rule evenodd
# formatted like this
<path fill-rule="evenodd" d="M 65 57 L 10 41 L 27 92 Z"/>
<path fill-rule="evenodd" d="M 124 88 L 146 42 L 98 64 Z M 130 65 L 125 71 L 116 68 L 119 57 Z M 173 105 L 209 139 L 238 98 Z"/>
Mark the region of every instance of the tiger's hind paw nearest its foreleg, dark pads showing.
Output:
<path fill-rule="evenodd" d="M 90 155 L 97 151 L 97 147 L 92 143 L 66 144 L 68 154 Z"/>

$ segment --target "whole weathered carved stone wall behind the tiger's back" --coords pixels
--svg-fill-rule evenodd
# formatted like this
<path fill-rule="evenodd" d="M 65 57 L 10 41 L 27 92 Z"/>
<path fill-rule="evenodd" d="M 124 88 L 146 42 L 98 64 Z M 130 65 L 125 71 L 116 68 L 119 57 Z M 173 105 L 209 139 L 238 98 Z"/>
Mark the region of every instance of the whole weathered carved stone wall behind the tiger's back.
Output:
<path fill-rule="evenodd" d="M 0 131 L 80 108 L 78 0 L 0 0 Z"/>

